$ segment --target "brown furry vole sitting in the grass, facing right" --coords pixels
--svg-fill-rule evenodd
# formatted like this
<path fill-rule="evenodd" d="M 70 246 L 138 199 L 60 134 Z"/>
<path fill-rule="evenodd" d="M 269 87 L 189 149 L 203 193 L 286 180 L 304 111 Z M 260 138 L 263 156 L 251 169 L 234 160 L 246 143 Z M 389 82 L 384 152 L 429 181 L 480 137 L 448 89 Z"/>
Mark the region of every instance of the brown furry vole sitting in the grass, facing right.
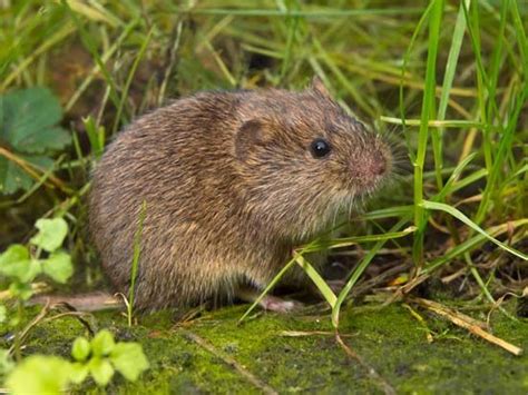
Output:
<path fill-rule="evenodd" d="M 127 293 L 146 203 L 139 308 L 252 298 L 294 247 L 377 189 L 391 162 L 382 138 L 317 79 L 301 92 L 201 92 L 140 117 L 108 146 L 94 174 L 90 230 Z"/>

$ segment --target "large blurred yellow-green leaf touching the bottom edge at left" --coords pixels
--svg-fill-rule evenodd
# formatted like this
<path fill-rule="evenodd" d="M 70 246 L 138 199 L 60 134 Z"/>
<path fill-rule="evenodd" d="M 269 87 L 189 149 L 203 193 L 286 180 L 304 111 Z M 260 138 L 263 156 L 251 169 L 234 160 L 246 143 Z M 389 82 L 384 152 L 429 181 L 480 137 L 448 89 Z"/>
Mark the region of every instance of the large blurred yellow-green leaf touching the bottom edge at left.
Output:
<path fill-rule="evenodd" d="M 66 391 L 71 365 L 56 356 L 33 355 L 22 361 L 8 376 L 12 394 L 61 394 Z"/>

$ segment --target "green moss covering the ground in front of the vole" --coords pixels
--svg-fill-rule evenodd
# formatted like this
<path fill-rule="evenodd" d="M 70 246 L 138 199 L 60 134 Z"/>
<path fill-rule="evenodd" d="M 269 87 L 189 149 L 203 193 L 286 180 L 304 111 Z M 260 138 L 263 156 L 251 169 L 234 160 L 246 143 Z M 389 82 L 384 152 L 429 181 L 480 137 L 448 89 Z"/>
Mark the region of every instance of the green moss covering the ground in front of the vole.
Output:
<path fill-rule="evenodd" d="M 111 329 L 120 340 L 140 342 L 151 364 L 137 383 L 116 377 L 108 392 L 260 393 L 224 362 L 225 356 L 281 393 L 380 391 L 364 367 L 345 356 L 333 336 L 283 335 L 285 330 L 331 332 L 327 316 L 258 314 L 237 326 L 244 308 L 206 313 L 185 328 L 174 327 L 174 312 L 140 317 L 131 328 L 118 313 L 97 314 L 98 328 Z M 527 357 L 510 356 L 443 320 L 423 316 L 430 328 L 448 334 L 429 344 L 423 326 L 400 305 L 348 308 L 341 317 L 341 333 L 354 352 L 401 393 L 528 391 Z M 492 324 L 496 335 L 528 348 L 526 322 L 493 314 Z M 215 352 L 205 349 L 188 333 L 211 344 Z M 86 335 L 86 329 L 75 318 L 40 324 L 31 332 L 25 353 L 68 357 L 71 342 L 80 335 Z M 75 389 L 100 393 L 91 382 Z"/>

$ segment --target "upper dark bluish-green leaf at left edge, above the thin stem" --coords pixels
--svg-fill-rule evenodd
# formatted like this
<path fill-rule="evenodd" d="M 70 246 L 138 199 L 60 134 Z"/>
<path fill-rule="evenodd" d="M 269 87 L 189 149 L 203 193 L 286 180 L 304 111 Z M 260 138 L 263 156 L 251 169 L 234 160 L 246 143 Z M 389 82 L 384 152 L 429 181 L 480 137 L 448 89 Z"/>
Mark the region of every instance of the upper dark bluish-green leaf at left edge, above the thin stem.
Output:
<path fill-rule="evenodd" d="M 19 152 L 42 154 L 71 142 L 56 125 L 62 118 L 59 100 L 46 88 L 17 90 L 3 97 L 0 140 Z"/>

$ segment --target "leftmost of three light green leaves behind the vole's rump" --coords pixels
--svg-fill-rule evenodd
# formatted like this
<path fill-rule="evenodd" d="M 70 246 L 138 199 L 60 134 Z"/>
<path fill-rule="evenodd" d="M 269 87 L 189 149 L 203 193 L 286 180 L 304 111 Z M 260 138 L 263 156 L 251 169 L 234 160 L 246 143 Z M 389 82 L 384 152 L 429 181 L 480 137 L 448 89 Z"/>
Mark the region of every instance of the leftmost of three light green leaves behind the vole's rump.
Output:
<path fill-rule="evenodd" d="M 13 244 L 0 255 L 0 274 L 21 283 L 31 282 L 40 273 L 40 264 L 31 259 L 28 248 Z"/>

